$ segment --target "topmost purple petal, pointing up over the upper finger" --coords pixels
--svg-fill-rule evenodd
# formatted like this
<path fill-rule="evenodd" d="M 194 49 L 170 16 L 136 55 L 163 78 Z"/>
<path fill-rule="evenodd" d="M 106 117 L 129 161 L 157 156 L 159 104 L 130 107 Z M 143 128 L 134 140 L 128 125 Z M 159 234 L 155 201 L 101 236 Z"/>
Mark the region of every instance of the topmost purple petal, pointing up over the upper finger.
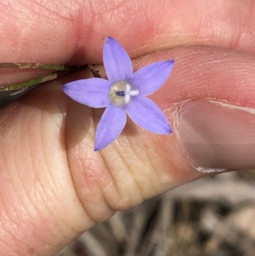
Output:
<path fill-rule="evenodd" d="M 103 48 L 105 72 L 112 84 L 128 80 L 133 75 L 133 66 L 126 50 L 113 38 L 108 36 Z"/>

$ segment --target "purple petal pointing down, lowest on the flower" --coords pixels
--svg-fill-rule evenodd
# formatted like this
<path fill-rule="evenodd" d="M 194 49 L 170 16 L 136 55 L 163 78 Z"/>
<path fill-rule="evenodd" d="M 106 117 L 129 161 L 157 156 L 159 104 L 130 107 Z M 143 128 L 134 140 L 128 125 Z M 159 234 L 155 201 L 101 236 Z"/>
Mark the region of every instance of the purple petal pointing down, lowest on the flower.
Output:
<path fill-rule="evenodd" d="M 113 142 L 124 129 L 126 121 L 127 115 L 124 109 L 112 104 L 106 107 L 96 130 L 94 150 L 101 150 Z"/>

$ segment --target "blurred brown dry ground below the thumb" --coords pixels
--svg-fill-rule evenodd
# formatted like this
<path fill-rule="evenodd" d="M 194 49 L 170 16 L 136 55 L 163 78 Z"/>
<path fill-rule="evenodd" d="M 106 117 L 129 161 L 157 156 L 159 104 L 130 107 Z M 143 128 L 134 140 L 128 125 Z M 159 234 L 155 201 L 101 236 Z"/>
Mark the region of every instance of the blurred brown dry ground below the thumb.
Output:
<path fill-rule="evenodd" d="M 255 171 L 207 177 L 85 232 L 57 256 L 254 256 Z"/>

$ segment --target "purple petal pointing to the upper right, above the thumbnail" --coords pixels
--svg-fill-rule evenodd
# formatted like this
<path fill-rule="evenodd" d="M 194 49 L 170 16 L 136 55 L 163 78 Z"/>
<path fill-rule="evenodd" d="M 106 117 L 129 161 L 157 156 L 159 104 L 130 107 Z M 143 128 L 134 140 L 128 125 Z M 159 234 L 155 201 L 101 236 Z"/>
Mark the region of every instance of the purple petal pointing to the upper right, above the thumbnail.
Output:
<path fill-rule="evenodd" d="M 149 95 L 163 86 L 173 69 L 174 61 L 159 61 L 136 71 L 129 80 L 142 95 Z"/>

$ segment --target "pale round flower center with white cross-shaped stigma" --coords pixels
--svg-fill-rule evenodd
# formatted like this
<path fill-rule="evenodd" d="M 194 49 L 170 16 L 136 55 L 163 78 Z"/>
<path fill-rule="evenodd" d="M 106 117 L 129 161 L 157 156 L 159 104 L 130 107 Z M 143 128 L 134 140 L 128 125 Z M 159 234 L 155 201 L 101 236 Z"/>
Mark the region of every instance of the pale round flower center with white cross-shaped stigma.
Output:
<path fill-rule="evenodd" d="M 119 81 L 111 87 L 110 102 L 117 107 L 122 107 L 130 102 L 131 96 L 138 94 L 139 91 L 134 89 L 129 82 Z"/>

